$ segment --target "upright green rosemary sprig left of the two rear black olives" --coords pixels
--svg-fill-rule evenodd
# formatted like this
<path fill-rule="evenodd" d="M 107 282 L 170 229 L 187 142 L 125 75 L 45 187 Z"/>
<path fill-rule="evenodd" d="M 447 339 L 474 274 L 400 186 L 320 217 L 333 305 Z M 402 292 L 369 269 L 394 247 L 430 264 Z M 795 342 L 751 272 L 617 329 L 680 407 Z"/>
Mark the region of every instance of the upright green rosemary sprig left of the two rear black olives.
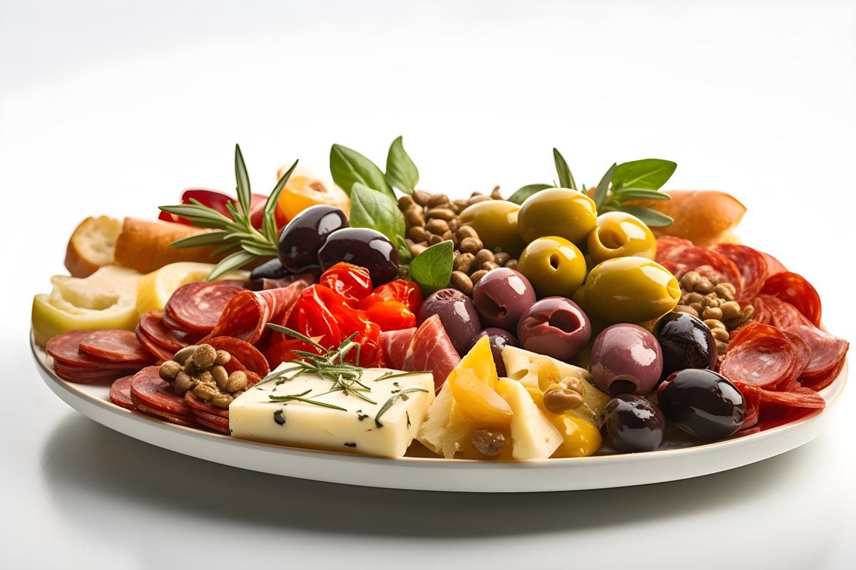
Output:
<path fill-rule="evenodd" d="M 175 214 L 190 220 L 196 227 L 204 227 L 216 232 L 206 232 L 189 238 L 182 238 L 169 244 L 176 248 L 196 248 L 216 246 L 217 250 L 211 256 L 219 256 L 224 253 L 229 255 L 211 269 L 208 280 L 217 279 L 225 273 L 229 273 L 247 263 L 257 259 L 266 259 L 276 256 L 276 201 L 282 189 L 288 182 L 297 161 L 288 168 L 281 179 L 276 183 L 273 191 L 265 203 L 265 211 L 262 216 L 261 230 L 253 227 L 250 220 L 250 209 L 253 203 L 253 193 L 250 190 L 250 178 L 247 174 L 247 165 L 241 154 L 241 147 L 235 144 L 235 181 L 238 200 L 237 203 L 227 203 L 226 209 L 229 215 L 222 214 L 216 209 L 208 208 L 197 200 L 191 199 L 189 204 L 177 204 L 175 206 L 160 206 L 163 212 Z"/>

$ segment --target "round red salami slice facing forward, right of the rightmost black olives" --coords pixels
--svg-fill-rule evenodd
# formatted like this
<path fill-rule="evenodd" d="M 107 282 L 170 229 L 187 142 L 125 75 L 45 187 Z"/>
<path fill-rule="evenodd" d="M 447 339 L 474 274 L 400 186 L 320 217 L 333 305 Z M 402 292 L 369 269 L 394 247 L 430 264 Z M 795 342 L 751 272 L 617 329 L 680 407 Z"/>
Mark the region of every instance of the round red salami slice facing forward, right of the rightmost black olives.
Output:
<path fill-rule="evenodd" d="M 728 344 L 719 372 L 742 385 L 775 388 L 796 367 L 794 344 L 774 326 L 750 323 Z"/>

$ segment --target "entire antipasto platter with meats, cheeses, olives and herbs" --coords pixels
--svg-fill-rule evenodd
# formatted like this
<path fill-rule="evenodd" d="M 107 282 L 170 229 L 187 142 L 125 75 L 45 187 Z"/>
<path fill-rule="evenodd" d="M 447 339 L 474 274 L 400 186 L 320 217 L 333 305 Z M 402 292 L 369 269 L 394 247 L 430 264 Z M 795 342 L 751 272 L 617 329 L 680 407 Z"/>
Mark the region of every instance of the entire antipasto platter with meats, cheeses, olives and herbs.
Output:
<path fill-rule="evenodd" d="M 334 145 L 333 182 L 295 162 L 266 196 L 236 148 L 236 197 L 80 223 L 33 299 L 39 372 L 133 438 L 353 485 L 640 485 L 816 437 L 849 344 L 739 243 L 742 204 L 660 190 L 674 162 L 586 188 L 554 157 L 554 184 L 450 199 L 401 138 L 386 172 Z"/>

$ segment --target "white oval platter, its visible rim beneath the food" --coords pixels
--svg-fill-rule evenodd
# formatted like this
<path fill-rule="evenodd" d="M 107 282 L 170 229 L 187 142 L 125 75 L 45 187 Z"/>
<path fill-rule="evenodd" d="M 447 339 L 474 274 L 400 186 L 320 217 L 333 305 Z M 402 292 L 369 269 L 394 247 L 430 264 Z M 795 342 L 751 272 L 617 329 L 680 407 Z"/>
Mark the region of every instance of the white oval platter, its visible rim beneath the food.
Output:
<path fill-rule="evenodd" d="M 699 477 L 763 461 L 816 438 L 847 382 L 847 364 L 821 391 L 827 408 L 743 438 L 681 449 L 543 461 L 468 461 L 434 457 L 383 459 L 332 451 L 257 444 L 175 426 L 110 403 L 108 387 L 66 382 L 33 343 L 45 384 L 80 414 L 116 432 L 207 461 L 330 483 L 414 491 L 536 492 L 605 489 Z M 418 444 L 413 444 L 417 447 Z M 163 461 L 169 461 L 164 455 Z"/>

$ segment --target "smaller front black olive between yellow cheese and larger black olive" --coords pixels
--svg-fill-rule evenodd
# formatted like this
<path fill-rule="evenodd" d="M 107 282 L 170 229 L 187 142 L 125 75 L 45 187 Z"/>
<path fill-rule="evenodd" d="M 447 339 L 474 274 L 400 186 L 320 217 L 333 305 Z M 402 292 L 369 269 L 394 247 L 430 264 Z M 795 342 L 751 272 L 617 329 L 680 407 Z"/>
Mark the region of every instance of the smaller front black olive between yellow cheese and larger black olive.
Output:
<path fill-rule="evenodd" d="M 663 443 L 666 420 L 657 406 L 643 397 L 621 394 L 603 407 L 603 439 L 616 451 L 653 451 Z"/>

